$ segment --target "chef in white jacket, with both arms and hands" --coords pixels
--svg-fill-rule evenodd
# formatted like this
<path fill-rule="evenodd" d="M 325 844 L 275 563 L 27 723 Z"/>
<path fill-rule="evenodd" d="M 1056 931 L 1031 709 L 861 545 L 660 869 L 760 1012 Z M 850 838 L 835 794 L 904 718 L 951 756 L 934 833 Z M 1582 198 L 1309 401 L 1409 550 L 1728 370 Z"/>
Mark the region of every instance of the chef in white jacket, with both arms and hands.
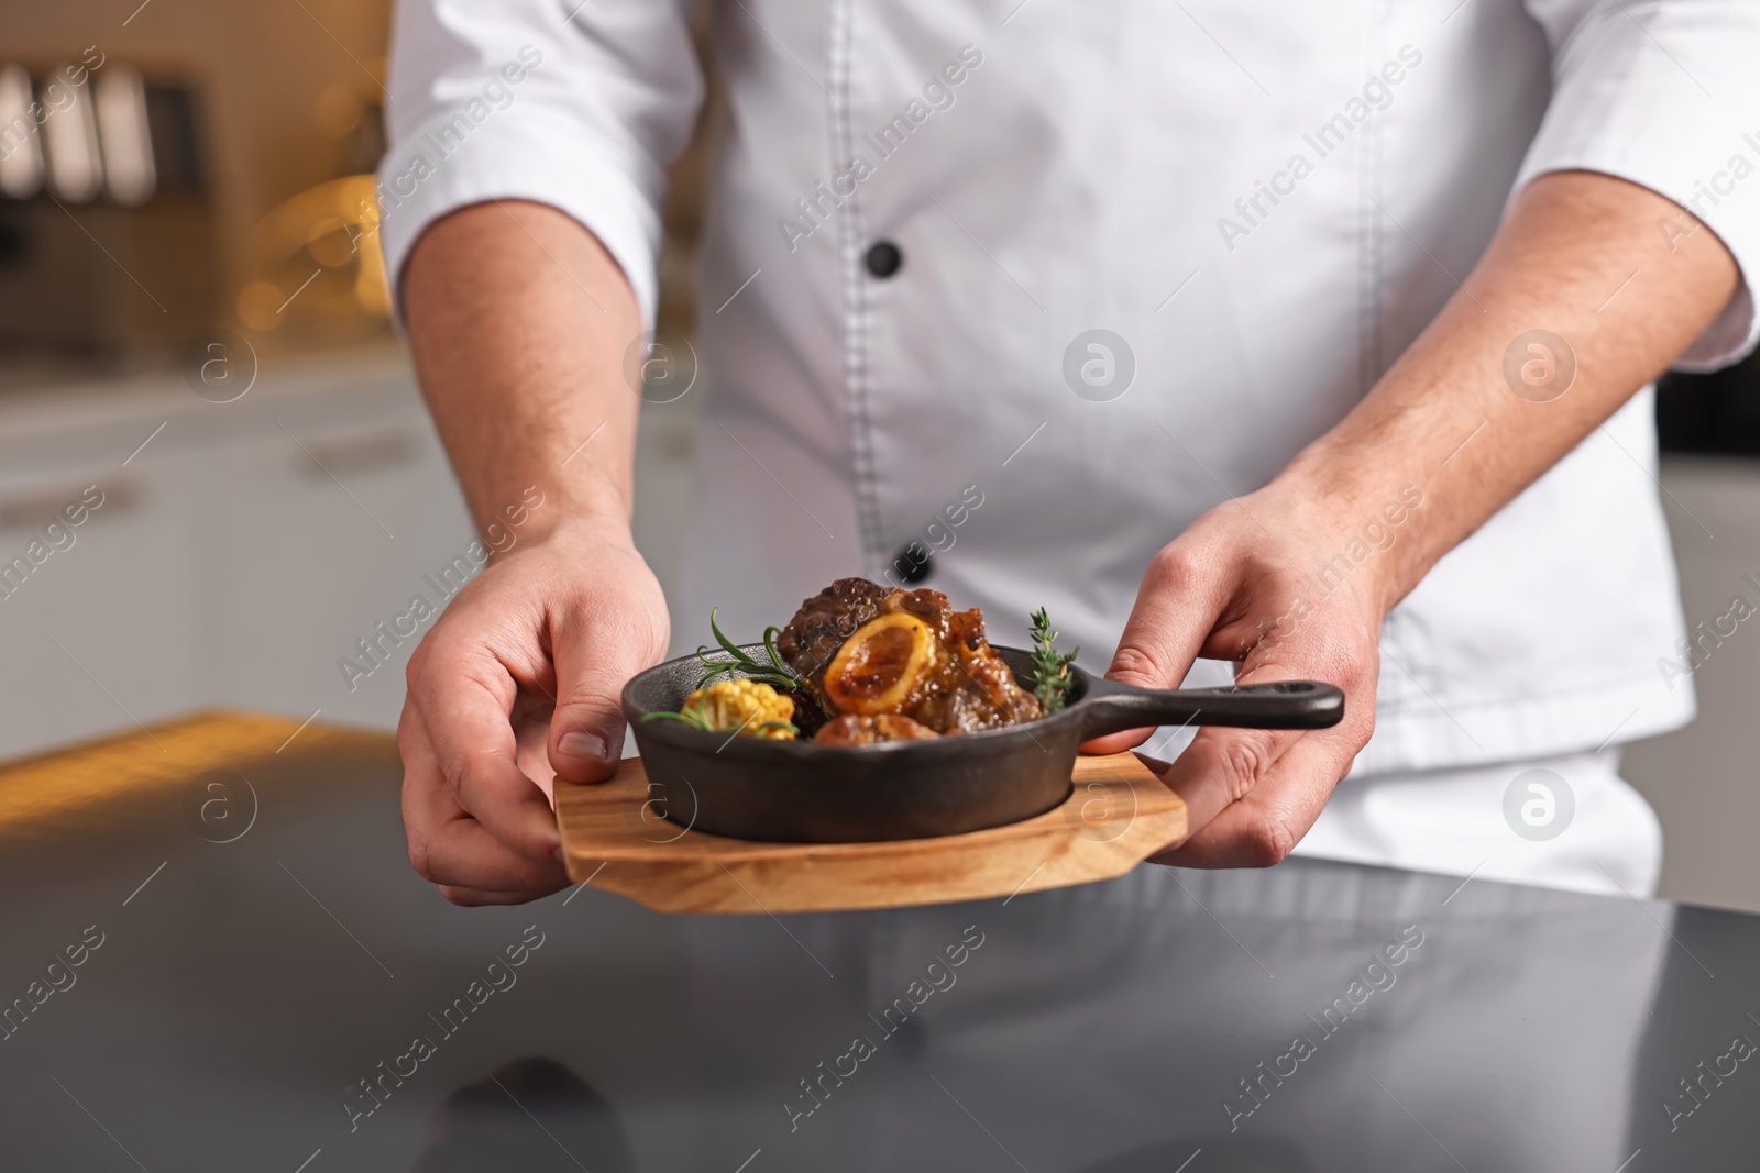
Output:
<path fill-rule="evenodd" d="M 716 2 L 686 352 L 693 7 L 398 7 L 400 320 L 479 526 L 544 492 L 408 667 L 422 876 L 563 886 L 547 779 L 611 774 L 623 682 L 861 573 L 1133 684 L 1346 691 L 1091 746 L 1172 763 L 1163 862 L 1654 890 L 1619 746 L 1691 719 L 1693 649 L 1651 380 L 1755 345 L 1760 5 Z M 644 375 L 702 397 L 671 608 Z"/>

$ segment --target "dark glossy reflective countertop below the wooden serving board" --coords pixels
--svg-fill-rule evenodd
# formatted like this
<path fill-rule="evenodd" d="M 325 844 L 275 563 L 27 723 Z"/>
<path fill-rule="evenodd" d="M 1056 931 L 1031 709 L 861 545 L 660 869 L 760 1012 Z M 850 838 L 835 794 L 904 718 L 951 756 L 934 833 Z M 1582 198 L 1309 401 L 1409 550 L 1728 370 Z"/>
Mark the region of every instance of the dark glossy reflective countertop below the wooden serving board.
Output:
<path fill-rule="evenodd" d="M 231 765 L 11 795 L 0 1169 L 1760 1166 L 1749 916 L 1302 862 L 458 909 L 389 739 Z"/>

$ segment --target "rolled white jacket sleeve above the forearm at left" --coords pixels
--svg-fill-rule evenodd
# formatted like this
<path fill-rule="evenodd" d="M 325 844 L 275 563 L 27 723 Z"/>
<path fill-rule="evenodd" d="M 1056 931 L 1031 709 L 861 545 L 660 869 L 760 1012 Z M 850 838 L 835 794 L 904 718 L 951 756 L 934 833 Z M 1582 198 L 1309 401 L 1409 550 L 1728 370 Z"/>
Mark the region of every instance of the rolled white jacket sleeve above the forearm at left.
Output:
<path fill-rule="evenodd" d="M 392 290 L 422 230 L 495 199 L 590 229 L 653 322 L 665 167 L 702 102 L 693 0 L 398 0 L 378 169 Z"/>

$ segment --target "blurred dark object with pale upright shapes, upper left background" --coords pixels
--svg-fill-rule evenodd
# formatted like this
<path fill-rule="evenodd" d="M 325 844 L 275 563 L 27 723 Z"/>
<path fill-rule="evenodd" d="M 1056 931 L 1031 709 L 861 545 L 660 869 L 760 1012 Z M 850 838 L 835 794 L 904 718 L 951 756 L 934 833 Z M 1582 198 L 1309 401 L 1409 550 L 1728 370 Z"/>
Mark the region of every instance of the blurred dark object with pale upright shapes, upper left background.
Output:
<path fill-rule="evenodd" d="M 213 202 L 195 91 L 90 53 L 0 65 L 0 348 L 132 361 L 213 325 Z"/>

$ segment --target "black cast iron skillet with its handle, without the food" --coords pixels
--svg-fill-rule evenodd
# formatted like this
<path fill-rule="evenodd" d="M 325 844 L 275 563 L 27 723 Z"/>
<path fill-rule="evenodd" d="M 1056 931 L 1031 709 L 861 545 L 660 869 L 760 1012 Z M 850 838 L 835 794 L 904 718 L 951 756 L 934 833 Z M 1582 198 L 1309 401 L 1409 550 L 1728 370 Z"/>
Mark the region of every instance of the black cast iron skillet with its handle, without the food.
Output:
<path fill-rule="evenodd" d="M 744 651 L 766 658 L 762 644 Z M 1017 681 L 1030 677 L 1031 652 L 996 651 Z M 878 746 L 815 746 L 642 721 L 648 712 L 676 712 L 702 681 L 695 656 L 669 659 L 623 688 L 623 716 L 648 769 L 644 814 L 766 842 L 957 835 L 1061 804 L 1077 747 L 1091 737 L 1146 725 L 1320 730 L 1345 716 L 1345 695 L 1313 681 L 1156 691 L 1070 670 L 1070 703 L 1042 721 Z"/>

